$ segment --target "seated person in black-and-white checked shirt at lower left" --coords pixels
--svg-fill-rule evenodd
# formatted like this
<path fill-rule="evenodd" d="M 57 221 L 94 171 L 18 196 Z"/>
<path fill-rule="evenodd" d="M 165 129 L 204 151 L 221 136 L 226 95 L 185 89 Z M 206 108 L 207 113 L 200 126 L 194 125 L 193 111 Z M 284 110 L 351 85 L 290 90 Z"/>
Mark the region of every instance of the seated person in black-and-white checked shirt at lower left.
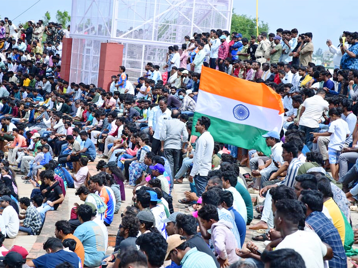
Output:
<path fill-rule="evenodd" d="M 20 198 L 19 203 L 20 208 L 26 210 L 24 222 L 20 223 L 19 231 L 30 235 L 40 234 L 42 227 L 40 212 L 34 206 L 30 205 L 30 199 L 27 197 Z"/>

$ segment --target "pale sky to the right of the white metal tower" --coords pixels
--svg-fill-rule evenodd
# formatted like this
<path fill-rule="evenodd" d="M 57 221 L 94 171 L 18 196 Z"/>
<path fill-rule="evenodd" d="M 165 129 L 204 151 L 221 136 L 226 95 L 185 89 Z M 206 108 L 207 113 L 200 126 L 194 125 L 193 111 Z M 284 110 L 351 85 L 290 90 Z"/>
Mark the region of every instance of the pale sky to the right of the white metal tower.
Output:
<path fill-rule="evenodd" d="M 350 10 L 357 10 L 358 1 L 348 1 Z M 256 0 L 234 0 L 234 11 L 256 18 Z M 358 18 L 354 12 L 344 12 L 337 1 L 323 0 L 258 0 L 258 18 L 269 24 L 270 32 L 276 29 L 297 28 L 299 34 L 311 32 L 314 50 L 327 50 L 327 39 L 337 46 L 343 31 L 356 31 Z"/>

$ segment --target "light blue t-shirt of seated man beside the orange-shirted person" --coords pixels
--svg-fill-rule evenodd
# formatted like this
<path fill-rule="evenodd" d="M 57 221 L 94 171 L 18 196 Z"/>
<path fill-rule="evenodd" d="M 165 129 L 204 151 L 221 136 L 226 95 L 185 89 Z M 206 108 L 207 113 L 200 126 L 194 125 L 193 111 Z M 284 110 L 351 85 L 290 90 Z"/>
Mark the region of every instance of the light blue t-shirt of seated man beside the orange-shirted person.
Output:
<path fill-rule="evenodd" d="M 87 267 L 100 266 L 106 252 L 105 238 L 100 225 L 89 220 L 79 225 L 73 235 L 82 242 L 84 265 Z"/>

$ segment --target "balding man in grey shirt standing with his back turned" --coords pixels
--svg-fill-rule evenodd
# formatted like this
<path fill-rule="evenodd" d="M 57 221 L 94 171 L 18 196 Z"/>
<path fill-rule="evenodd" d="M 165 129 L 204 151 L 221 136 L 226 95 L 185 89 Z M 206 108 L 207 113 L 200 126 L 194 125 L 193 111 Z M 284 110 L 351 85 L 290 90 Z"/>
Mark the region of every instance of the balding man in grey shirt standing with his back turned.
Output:
<path fill-rule="evenodd" d="M 179 120 L 180 114 L 179 110 L 171 110 L 172 120 L 164 120 L 163 130 L 160 131 L 160 151 L 164 152 L 164 157 L 169 161 L 172 178 L 174 178 L 179 166 L 182 142 L 188 140 L 187 126 Z M 173 182 L 170 182 L 170 188 L 173 188 Z"/>

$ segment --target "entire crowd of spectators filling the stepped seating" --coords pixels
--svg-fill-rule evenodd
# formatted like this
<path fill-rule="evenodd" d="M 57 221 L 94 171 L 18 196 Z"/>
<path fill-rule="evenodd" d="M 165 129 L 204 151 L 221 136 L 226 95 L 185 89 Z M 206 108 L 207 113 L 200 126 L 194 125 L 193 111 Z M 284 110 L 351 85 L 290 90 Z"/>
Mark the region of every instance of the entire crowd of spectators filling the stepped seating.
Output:
<path fill-rule="evenodd" d="M 169 46 L 162 66 L 147 63 L 133 83 L 120 66 L 103 89 L 62 79 L 69 31 L 61 24 L 22 26 L 0 21 L 0 242 L 39 235 L 68 188 L 84 203 L 55 223 L 47 254 L 24 264 L 26 249 L 2 246 L 0 265 L 347 267 L 346 254 L 358 253 L 350 220 L 358 211 L 350 207 L 358 200 L 357 32 L 343 32 L 337 47 L 327 41 L 333 72 L 312 63 L 312 33 L 194 33 L 181 49 Z M 202 66 L 282 96 L 282 130 L 262 135 L 270 155 L 218 143 L 209 130 L 220 126 L 193 121 Z M 89 175 L 94 161 L 98 173 Z M 248 164 L 251 174 L 241 174 Z M 176 194 L 190 213 L 174 212 L 174 184 L 184 178 L 190 191 Z M 29 197 L 20 181 L 33 186 Z M 125 188 L 133 205 L 121 209 Z M 264 204 L 253 207 L 250 193 Z M 260 221 L 251 224 L 254 208 Z M 252 240 L 266 241 L 265 251 L 244 246 L 247 225 L 263 230 Z"/>

